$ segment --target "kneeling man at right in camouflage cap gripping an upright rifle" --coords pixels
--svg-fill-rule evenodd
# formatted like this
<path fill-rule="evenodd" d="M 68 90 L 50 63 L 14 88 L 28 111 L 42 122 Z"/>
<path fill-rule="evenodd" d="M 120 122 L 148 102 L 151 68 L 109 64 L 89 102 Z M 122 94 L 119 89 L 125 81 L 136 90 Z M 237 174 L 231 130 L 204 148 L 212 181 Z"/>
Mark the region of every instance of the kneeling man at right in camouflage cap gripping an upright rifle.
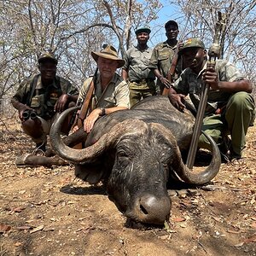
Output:
<path fill-rule="evenodd" d="M 229 158 L 241 160 L 241 151 L 245 148 L 245 137 L 255 108 L 250 94 L 252 84 L 229 61 L 217 60 L 215 68 L 207 67 L 207 50 L 198 38 L 186 40 L 179 54 L 183 56 L 187 68 L 175 82 L 174 88 L 170 88 L 170 102 L 177 109 L 183 110 L 183 99 L 189 95 L 195 108 L 198 108 L 202 84 L 209 84 L 202 131 L 207 132 L 219 145 L 224 142 L 226 132 L 229 132 Z M 199 137 L 198 147 L 210 149 L 204 135 Z"/>

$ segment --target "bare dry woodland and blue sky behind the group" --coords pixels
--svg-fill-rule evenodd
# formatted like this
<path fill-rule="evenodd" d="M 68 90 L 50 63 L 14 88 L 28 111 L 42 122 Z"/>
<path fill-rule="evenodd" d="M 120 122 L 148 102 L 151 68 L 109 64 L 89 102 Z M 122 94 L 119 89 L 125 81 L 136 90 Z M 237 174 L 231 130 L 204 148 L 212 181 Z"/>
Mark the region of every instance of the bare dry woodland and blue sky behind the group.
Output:
<path fill-rule="evenodd" d="M 164 4 L 170 5 L 172 12 L 162 22 L 159 14 Z M 255 84 L 255 5 L 255 0 L 1 1 L 0 113 L 10 113 L 9 98 L 21 80 L 38 72 L 38 56 L 43 51 L 52 50 L 59 58 L 59 75 L 80 88 L 96 68 L 92 50 L 113 44 L 119 55 L 124 55 L 137 44 L 135 29 L 144 25 L 151 26 L 149 44 L 153 47 L 166 39 L 162 28 L 173 19 L 173 11 L 180 35 L 200 37 L 207 47 L 212 44 L 218 11 L 226 15 L 221 35 L 223 57 L 236 63 Z"/>

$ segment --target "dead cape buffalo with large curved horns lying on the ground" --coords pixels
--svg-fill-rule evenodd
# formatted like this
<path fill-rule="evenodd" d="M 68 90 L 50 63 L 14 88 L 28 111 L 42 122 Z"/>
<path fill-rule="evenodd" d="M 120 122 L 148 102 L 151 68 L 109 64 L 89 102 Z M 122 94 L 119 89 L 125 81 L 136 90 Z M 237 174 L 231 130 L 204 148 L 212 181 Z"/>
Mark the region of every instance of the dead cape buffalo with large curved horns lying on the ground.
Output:
<path fill-rule="evenodd" d="M 52 126 L 52 147 L 74 163 L 77 177 L 90 183 L 102 180 L 109 198 L 127 218 L 163 224 L 171 212 L 166 189 L 170 177 L 201 185 L 218 173 L 220 154 L 210 137 L 212 160 L 206 170 L 192 172 L 183 164 L 181 151 L 189 148 L 195 118 L 189 111 L 173 108 L 166 96 L 148 97 L 131 110 L 98 119 L 83 149 L 61 141 L 61 124 L 72 110 L 67 109 Z"/>

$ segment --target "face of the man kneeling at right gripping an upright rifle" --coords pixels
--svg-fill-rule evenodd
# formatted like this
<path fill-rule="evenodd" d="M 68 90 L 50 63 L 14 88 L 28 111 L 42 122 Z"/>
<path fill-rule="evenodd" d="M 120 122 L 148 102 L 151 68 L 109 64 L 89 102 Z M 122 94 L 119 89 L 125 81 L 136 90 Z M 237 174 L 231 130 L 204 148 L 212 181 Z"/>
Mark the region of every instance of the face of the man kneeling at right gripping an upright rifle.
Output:
<path fill-rule="evenodd" d="M 207 51 L 199 47 L 191 47 L 183 50 L 183 68 L 190 67 L 196 73 L 201 71 Z"/>

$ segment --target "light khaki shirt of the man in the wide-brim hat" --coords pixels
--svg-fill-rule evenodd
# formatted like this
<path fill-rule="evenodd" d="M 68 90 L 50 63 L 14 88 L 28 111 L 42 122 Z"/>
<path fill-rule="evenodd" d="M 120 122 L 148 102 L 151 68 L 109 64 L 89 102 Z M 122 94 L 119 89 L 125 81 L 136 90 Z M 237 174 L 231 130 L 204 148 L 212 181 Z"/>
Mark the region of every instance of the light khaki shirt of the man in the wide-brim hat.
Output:
<path fill-rule="evenodd" d="M 90 77 L 84 81 L 84 84 L 79 92 L 78 104 L 84 102 L 92 79 L 93 77 Z M 102 91 L 100 75 L 97 74 L 95 88 L 96 90 L 94 90 L 92 96 L 91 109 L 113 107 L 130 108 L 130 93 L 128 84 L 119 76 L 119 74 L 114 74 L 113 79 L 110 81 L 104 91 Z"/>

